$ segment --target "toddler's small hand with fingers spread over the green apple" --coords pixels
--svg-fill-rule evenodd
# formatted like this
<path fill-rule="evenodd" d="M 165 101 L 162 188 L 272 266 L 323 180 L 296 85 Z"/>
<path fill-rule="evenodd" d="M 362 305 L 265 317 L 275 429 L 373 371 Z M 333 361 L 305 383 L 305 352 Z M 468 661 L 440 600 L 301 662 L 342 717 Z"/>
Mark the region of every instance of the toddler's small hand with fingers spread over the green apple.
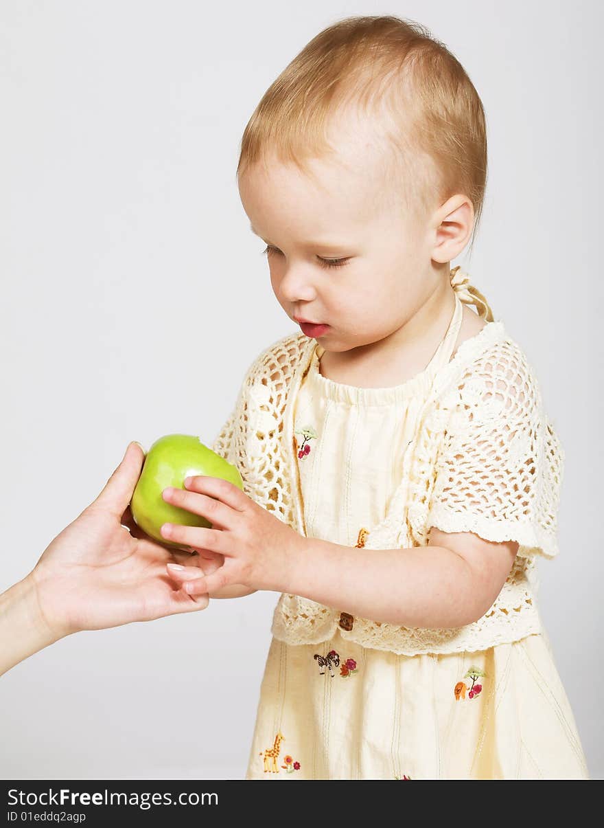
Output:
<path fill-rule="evenodd" d="M 232 584 L 280 590 L 286 571 L 295 565 L 304 546 L 304 537 L 287 523 L 221 478 L 187 478 L 185 489 L 164 489 L 162 497 L 212 523 L 211 529 L 164 523 L 163 537 L 191 546 L 200 555 L 224 556 L 223 566 L 185 585 L 189 595 L 212 593 Z"/>

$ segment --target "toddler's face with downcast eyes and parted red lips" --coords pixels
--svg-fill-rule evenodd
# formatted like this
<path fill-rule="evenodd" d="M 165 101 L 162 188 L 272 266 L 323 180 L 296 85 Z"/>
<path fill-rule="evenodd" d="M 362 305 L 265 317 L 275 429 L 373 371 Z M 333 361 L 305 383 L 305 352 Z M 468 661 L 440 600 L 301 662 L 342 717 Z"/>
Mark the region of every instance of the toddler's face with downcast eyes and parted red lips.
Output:
<path fill-rule="evenodd" d="M 290 319 L 329 326 L 315 337 L 328 351 L 377 342 L 442 286 L 443 266 L 430 257 L 434 216 L 396 197 L 368 137 L 338 143 L 337 162 L 309 166 L 314 180 L 278 161 L 239 179 L 243 209 L 269 247 L 273 291 Z"/>

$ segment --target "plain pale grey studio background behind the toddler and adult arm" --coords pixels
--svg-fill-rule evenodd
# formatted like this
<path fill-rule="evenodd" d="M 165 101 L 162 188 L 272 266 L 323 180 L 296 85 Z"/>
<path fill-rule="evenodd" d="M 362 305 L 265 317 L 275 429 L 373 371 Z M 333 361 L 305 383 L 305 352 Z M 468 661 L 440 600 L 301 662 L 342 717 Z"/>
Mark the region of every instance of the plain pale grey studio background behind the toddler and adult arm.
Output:
<path fill-rule="evenodd" d="M 602 4 L 0 3 L 2 581 L 36 564 L 129 440 L 213 440 L 292 333 L 235 168 L 247 119 L 324 26 L 424 23 L 487 110 L 461 264 L 525 350 L 567 454 L 540 609 L 602 777 Z M 245 347 L 242 347 L 245 342 Z M 4 778 L 240 778 L 278 595 L 66 638 L 0 681 Z"/>

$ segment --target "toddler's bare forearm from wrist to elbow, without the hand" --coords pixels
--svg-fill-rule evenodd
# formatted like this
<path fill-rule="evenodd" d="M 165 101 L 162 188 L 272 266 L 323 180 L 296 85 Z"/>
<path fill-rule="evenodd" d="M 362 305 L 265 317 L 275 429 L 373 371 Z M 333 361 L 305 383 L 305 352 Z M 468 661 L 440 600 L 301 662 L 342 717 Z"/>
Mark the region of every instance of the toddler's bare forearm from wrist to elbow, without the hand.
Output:
<path fill-rule="evenodd" d="M 306 541 L 276 591 L 404 627 L 461 627 L 488 609 L 467 561 L 443 546 L 364 549 Z"/>

